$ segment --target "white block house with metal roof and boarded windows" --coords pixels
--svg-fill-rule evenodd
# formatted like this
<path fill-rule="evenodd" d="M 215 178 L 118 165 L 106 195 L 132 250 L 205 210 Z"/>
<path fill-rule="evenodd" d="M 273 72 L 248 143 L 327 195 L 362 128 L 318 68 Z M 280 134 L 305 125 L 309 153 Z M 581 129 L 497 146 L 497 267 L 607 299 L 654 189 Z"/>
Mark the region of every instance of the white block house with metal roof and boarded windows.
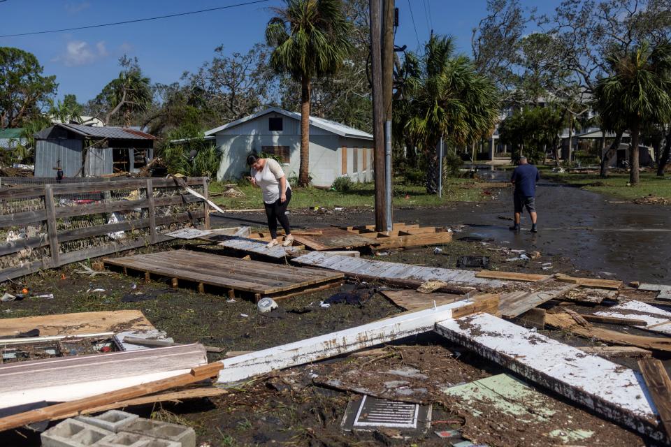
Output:
<path fill-rule="evenodd" d="M 205 132 L 214 136 L 222 155 L 217 179 L 249 175 L 247 155 L 266 152 L 282 159 L 287 177 L 298 176 L 301 163 L 301 114 L 267 108 Z M 310 176 L 315 186 L 331 186 L 347 176 L 373 181 L 373 135 L 328 119 L 310 117 Z"/>

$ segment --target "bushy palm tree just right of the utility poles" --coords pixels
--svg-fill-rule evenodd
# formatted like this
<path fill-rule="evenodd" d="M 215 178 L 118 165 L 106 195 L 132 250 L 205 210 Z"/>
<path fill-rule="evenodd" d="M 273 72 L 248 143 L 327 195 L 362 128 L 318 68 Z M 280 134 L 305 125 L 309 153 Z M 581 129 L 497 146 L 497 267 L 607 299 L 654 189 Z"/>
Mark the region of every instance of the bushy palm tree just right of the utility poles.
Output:
<path fill-rule="evenodd" d="M 498 119 L 498 94 L 468 57 L 454 56 L 452 38 L 432 35 L 424 50 L 417 74 L 407 80 L 410 111 L 405 127 L 426 154 L 426 191 L 436 193 L 440 138 L 468 145 L 491 135 Z"/>

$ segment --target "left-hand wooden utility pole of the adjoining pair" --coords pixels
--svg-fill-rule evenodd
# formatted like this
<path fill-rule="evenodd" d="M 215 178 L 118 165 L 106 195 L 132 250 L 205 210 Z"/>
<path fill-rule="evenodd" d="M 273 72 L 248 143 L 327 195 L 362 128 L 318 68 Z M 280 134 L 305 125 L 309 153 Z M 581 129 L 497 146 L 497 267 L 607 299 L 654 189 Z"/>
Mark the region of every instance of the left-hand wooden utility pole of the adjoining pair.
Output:
<path fill-rule="evenodd" d="M 384 99 L 382 90 L 381 0 L 369 0 L 370 62 L 373 77 L 373 165 L 375 169 L 375 230 L 387 229 L 387 201 L 384 185 Z"/>

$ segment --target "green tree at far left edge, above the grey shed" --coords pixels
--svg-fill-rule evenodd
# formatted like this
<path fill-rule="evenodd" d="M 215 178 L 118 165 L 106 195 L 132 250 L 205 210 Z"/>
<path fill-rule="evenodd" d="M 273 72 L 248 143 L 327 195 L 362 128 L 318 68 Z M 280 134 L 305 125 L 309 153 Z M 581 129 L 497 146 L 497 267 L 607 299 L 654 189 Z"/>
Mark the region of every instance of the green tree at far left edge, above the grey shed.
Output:
<path fill-rule="evenodd" d="M 43 76 L 34 54 L 0 47 L 0 128 L 21 127 L 41 115 L 48 99 L 56 94 L 56 76 Z"/>

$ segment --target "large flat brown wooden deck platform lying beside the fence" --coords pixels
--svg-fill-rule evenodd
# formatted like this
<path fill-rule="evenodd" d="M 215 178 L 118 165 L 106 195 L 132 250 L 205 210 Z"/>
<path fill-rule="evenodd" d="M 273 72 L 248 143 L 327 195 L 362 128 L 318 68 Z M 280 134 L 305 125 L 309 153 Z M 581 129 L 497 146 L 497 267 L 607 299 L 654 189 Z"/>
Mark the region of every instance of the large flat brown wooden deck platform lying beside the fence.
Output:
<path fill-rule="evenodd" d="M 173 279 L 173 287 L 180 279 L 228 290 L 229 296 L 251 295 L 257 301 L 262 297 L 274 299 L 340 286 L 343 275 L 311 268 L 289 267 L 258 261 L 244 261 L 229 256 L 199 253 L 189 250 L 162 251 L 123 258 L 108 258 L 107 265 L 145 272 Z"/>

